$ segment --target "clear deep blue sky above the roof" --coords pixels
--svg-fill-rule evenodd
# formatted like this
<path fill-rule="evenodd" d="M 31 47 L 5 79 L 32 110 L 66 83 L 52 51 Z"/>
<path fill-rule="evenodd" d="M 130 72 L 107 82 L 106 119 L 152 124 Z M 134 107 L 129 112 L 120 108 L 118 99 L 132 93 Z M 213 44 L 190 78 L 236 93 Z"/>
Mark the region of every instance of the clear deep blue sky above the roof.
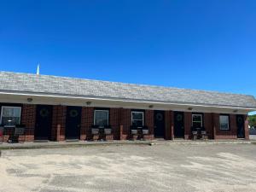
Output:
<path fill-rule="evenodd" d="M 255 0 L 0 1 L 0 70 L 256 96 Z"/>

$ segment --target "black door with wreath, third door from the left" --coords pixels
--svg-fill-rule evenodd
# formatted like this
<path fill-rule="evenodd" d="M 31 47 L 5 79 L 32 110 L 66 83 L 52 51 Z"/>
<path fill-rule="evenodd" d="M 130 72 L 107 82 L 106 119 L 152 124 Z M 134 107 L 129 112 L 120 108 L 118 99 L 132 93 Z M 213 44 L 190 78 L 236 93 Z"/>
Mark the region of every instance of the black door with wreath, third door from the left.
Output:
<path fill-rule="evenodd" d="M 164 111 L 154 111 L 154 137 L 165 137 Z"/>

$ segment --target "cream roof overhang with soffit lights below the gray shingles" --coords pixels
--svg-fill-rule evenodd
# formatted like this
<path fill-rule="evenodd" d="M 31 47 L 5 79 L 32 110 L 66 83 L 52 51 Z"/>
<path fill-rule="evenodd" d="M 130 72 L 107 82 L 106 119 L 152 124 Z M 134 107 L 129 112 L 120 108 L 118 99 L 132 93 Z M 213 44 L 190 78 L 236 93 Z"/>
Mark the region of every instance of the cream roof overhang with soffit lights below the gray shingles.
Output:
<path fill-rule="evenodd" d="M 32 101 L 28 102 L 27 98 L 32 98 Z M 200 103 L 147 101 L 97 96 L 71 96 L 49 93 L 34 93 L 20 91 L 18 92 L 3 90 L 0 90 L 0 100 L 1 102 L 67 106 L 88 106 L 88 102 L 90 102 L 90 107 L 142 108 L 154 110 L 173 110 L 205 113 L 249 113 L 256 110 L 256 108 L 206 105 Z"/>

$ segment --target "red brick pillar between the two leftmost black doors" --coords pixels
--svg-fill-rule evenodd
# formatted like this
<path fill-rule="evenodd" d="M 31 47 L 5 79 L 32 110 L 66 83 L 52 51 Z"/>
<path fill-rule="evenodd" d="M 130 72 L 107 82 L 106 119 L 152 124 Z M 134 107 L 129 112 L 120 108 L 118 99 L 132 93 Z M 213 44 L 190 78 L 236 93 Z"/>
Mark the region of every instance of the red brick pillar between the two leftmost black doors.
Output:
<path fill-rule="evenodd" d="M 65 140 L 67 106 L 53 107 L 51 139 L 57 142 Z"/>

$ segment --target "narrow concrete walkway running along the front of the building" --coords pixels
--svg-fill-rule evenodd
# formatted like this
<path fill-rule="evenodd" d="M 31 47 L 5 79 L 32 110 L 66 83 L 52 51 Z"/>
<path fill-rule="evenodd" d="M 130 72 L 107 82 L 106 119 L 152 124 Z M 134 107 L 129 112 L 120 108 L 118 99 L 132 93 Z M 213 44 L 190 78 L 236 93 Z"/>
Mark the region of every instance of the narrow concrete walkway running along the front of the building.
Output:
<path fill-rule="evenodd" d="M 2 143 L 0 144 L 1 149 L 15 149 L 15 148 L 69 148 L 69 147 L 86 147 L 95 145 L 168 145 L 168 144 L 249 144 L 252 143 L 248 140 L 151 140 L 151 141 L 98 141 L 98 142 L 87 142 L 87 141 L 66 141 L 66 142 L 26 142 L 26 143 Z"/>

